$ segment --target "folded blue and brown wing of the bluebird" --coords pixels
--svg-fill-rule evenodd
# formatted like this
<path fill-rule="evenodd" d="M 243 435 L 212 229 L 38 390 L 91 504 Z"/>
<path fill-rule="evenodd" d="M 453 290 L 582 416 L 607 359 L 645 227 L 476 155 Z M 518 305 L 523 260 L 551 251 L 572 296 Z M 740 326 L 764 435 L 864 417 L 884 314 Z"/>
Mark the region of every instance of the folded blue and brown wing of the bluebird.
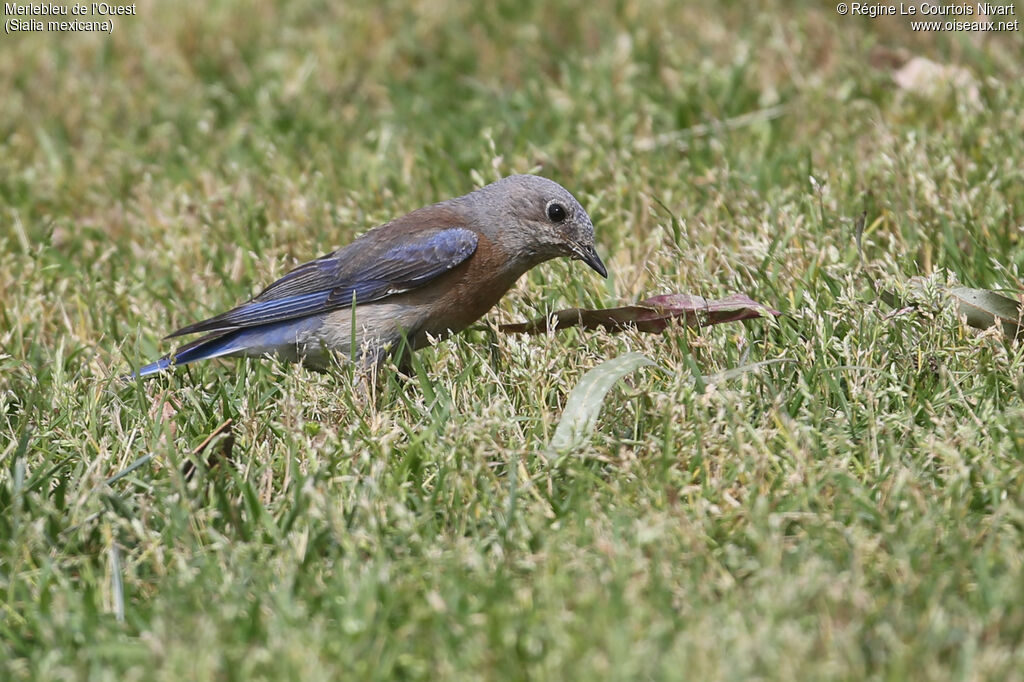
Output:
<path fill-rule="evenodd" d="M 372 303 L 422 287 L 476 251 L 476 233 L 463 227 L 406 231 L 371 230 L 344 249 L 300 265 L 248 303 L 168 338 L 269 325 L 345 308 L 353 300 Z"/>

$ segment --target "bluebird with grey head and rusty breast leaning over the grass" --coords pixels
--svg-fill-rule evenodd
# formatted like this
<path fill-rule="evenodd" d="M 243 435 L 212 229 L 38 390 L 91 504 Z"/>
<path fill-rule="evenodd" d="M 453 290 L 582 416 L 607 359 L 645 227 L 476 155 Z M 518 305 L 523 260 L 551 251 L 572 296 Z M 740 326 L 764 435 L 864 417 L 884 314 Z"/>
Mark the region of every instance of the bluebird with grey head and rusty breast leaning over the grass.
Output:
<path fill-rule="evenodd" d="M 275 355 L 326 371 L 336 356 L 379 368 L 484 315 L 527 270 L 557 257 L 602 278 L 590 216 L 565 187 L 510 175 L 370 229 L 299 265 L 249 301 L 182 327 L 204 334 L 130 377 L 224 356 Z"/>

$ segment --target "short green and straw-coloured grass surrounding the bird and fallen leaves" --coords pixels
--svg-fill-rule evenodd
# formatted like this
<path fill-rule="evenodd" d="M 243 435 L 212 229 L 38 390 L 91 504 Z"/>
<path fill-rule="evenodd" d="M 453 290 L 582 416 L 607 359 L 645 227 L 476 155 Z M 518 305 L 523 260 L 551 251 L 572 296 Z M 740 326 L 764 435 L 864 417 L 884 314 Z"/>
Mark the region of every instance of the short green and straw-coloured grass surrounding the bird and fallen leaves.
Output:
<path fill-rule="evenodd" d="M 110 37 L 0 38 L 0 677 L 1024 679 L 1024 346 L 944 294 L 1024 290 L 1021 34 L 485 4 L 140 3 Z M 901 90 L 914 55 L 977 96 Z M 116 380 L 526 171 L 591 212 L 607 282 L 546 264 L 371 396 L 269 360 Z M 860 271 L 863 210 L 863 267 L 914 309 Z M 495 331 L 669 292 L 786 314 Z M 662 369 L 550 457 L 629 351 Z"/>

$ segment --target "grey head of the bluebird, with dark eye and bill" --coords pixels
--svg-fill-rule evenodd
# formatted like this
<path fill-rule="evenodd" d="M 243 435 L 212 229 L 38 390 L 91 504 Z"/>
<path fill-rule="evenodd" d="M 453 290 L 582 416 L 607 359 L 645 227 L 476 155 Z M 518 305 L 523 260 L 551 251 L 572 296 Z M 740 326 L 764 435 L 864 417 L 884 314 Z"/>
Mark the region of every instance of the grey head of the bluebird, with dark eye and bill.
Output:
<path fill-rule="evenodd" d="M 568 189 L 538 175 L 510 175 L 452 200 L 496 244 L 531 264 L 568 256 L 608 276 L 594 249 L 594 225 Z"/>

